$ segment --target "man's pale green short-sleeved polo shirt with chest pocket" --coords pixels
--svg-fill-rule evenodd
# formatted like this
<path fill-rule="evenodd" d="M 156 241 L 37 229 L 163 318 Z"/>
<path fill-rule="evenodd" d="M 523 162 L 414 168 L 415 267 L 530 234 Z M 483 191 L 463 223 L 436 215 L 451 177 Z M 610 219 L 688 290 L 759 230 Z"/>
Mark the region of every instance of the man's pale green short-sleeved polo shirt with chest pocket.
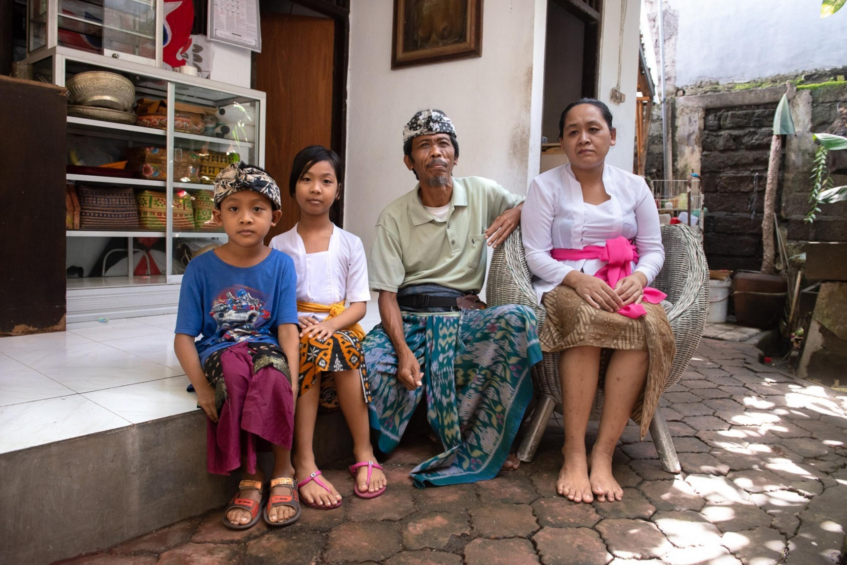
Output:
<path fill-rule="evenodd" d="M 484 231 L 524 197 L 479 176 L 453 177 L 450 208 L 440 221 L 424 208 L 419 188 L 379 214 L 368 269 L 371 289 L 396 292 L 407 285 L 435 283 L 479 292 L 488 259 Z"/>

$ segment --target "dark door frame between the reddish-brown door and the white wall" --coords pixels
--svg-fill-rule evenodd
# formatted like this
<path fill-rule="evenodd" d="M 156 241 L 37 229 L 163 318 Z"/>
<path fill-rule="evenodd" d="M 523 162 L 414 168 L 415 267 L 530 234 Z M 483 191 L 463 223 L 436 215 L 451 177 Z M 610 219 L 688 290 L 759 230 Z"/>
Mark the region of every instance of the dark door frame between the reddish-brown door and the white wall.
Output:
<path fill-rule="evenodd" d="M 335 53 L 332 71 L 332 136 L 330 149 L 339 154 L 346 168 L 347 147 L 347 66 L 350 56 L 350 0 L 292 0 L 335 20 Z M 346 170 L 345 170 L 346 178 Z M 344 227 L 345 190 L 336 205 L 335 223 Z"/>

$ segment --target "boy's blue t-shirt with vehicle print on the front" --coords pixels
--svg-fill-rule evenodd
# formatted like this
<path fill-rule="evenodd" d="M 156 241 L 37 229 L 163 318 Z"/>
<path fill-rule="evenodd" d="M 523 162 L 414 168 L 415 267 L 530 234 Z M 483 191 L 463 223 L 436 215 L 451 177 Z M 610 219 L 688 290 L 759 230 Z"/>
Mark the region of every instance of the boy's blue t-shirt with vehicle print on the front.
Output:
<path fill-rule="evenodd" d="M 180 288 L 174 333 L 197 341 L 201 365 L 213 352 L 241 341 L 280 345 L 280 324 L 297 324 L 294 262 L 271 250 L 262 263 L 234 267 L 214 251 L 191 260 Z"/>

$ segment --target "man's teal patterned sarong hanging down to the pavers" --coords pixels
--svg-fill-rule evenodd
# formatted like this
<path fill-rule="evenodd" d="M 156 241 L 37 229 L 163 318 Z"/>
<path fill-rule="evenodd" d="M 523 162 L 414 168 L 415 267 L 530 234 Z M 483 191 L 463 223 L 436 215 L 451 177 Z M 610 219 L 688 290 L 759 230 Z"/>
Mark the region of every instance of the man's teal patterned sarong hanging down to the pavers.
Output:
<path fill-rule="evenodd" d="M 444 445 L 412 469 L 419 488 L 492 479 L 500 471 L 533 395 L 529 368 L 541 360 L 535 315 L 501 306 L 461 313 L 403 313 L 406 343 L 424 372 L 407 391 L 396 377 L 397 357 L 382 325 L 363 341 L 371 385 L 371 427 L 379 450 L 392 451 L 420 402 Z"/>

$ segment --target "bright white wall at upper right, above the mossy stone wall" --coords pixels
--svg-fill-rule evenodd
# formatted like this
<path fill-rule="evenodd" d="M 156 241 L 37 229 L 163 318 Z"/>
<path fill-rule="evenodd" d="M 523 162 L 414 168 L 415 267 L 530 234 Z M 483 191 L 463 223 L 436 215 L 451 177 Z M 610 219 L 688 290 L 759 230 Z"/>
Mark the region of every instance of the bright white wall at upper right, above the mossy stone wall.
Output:
<path fill-rule="evenodd" d="M 847 64 L 847 8 L 819 0 L 668 0 L 678 11 L 676 84 L 745 82 Z"/>

